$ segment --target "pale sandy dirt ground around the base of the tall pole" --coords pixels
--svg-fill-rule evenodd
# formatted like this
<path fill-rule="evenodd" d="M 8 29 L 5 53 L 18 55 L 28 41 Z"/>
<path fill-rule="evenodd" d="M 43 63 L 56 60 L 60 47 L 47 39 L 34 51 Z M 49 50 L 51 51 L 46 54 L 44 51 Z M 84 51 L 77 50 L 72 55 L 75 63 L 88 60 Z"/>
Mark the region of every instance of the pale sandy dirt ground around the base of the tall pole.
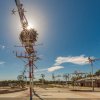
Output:
<path fill-rule="evenodd" d="M 69 88 L 34 88 L 33 100 L 100 100 L 100 89 Z M 29 100 L 29 89 L 20 92 L 0 94 L 0 100 Z"/>

